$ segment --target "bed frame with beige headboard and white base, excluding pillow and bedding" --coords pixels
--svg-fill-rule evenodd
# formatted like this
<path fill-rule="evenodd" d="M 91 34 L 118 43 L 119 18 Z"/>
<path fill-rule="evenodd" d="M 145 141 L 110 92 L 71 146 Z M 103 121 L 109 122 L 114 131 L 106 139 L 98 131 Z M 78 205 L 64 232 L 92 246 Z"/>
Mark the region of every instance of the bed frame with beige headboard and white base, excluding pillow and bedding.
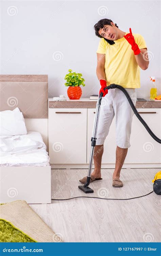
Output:
<path fill-rule="evenodd" d="M 48 152 L 48 75 L 0 75 L 0 92 L 0 111 L 17 106 Z M 0 203 L 16 200 L 51 203 L 51 167 L 0 167 Z"/>

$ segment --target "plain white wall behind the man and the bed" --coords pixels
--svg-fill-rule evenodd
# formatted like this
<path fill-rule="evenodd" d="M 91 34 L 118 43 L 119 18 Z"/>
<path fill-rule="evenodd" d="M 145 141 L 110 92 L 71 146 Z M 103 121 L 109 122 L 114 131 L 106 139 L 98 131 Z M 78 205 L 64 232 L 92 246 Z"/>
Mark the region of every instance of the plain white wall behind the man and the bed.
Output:
<path fill-rule="evenodd" d="M 14 6 L 12 12 L 11 6 Z M 106 6 L 105 12 L 98 9 Z M 93 26 L 103 18 L 128 32 L 142 34 L 151 61 L 141 70 L 138 97 L 149 97 L 149 76 L 160 89 L 160 1 L 2 1 L 1 74 L 48 74 L 49 97 L 65 94 L 68 69 L 82 73 L 82 97 L 98 94 L 96 49 L 100 38 Z M 16 10 L 15 15 L 14 11 Z M 104 14 L 104 15 L 103 15 Z M 61 52 L 60 60 L 53 53 Z"/>

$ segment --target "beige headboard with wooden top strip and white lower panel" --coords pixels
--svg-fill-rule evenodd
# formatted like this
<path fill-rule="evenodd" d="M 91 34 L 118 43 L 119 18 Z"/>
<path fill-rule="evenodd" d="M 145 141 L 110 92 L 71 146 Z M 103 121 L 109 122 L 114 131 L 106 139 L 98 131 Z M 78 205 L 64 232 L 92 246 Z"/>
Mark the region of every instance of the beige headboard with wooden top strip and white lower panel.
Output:
<path fill-rule="evenodd" d="M 27 130 L 40 132 L 48 151 L 48 75 L 0 75 L 0 111 L 16 107 Z"/>

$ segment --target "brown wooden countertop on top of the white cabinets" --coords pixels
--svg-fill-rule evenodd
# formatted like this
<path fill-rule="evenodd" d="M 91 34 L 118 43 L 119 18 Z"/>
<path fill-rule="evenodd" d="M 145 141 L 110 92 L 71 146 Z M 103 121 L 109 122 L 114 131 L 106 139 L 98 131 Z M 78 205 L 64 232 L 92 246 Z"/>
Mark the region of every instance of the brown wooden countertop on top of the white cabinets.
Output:
<path fill-rule="evenodd" d="M 49 98 L 49 108 L 96 108 L 97 100 L 90 100 L 89 98 L 81 98 L 79 100 L 55 101 Z M 161 101 L 137 101 L 136 108 L 161 108 Z"/>

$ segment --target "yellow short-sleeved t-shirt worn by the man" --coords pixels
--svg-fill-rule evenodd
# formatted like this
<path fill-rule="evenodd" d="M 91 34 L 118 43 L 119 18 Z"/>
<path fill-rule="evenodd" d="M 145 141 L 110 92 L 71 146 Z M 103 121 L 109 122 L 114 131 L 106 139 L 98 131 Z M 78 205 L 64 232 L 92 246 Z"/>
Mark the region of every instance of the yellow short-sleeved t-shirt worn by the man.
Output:
<path fill-rule="evenodd" d="M 126 32 L 128 34 L 129 32 Z M 133 34 L 139 49 L 147 48 L 142 35 Z M 105 74 L 107 86 L 119 84 L 124 88 L 140 88 L 140 67 L 136 61 L 131 45 L 123 37 L 110 45 L 101 38 L 96 53 L 105 54 Z"/>

